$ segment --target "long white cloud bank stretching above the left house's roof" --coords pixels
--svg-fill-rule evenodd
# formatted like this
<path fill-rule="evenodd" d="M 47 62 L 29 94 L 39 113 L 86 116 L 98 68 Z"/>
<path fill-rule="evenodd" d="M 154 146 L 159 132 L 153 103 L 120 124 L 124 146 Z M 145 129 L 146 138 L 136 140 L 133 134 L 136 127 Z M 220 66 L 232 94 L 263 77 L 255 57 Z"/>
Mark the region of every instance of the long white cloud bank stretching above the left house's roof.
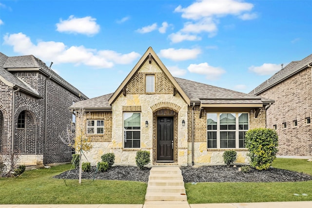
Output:
<path fill-rule="evenodd" d="M 68 47 L 62 42 L 39 41 L 34 44 L 29 37 L 22 33 L 6 34 L 4 44 L 13 46 L 14 52 L 22 55 L 33 54 L 42 60 L 55 63 L 73 63 L 96 68 L 111 68 L 115 64 L 128 64 L 140 57 L 136 52 L 120 54 L 111 50 L 88 49 L 84 46 Z"/>

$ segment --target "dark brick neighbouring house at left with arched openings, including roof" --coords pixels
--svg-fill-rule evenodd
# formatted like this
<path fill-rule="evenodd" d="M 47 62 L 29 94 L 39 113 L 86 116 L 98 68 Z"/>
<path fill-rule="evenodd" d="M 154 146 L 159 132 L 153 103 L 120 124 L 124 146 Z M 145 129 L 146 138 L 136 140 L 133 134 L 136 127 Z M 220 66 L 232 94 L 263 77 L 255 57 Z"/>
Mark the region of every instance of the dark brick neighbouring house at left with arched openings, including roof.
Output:
<path fill-rule="evenodd" d="M 32 55 L 0 53 L 0 87 L 0 154 L 20 154 L 24 165 L 69 162 L 59 134 L 73 117 L 68 107 L 87 96 Z"/>

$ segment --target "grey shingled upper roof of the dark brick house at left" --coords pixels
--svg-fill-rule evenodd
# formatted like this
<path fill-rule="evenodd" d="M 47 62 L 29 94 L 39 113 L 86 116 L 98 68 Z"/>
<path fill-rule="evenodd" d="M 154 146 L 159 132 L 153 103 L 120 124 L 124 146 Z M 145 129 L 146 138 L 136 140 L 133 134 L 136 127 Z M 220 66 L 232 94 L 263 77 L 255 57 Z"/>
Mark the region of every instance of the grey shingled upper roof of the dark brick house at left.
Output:
<path fill-rule="evenodd" d="M 43 61 L 41 61 L 37 57 L 34 57 L 33 55 L 7 57 L 4 54 L 0 53 L 0 57 L 6 57 L 3 64 L 1 64 L 2 68 L 5 69 L 5 71 L 14 71 L 16 69 L 22 70 L 22 69 L 26 69 L 26 68 L 38 68 L 39 71 L 41 71 L 46 76 L 51 76 L 51 78 L 54 81 L 59 83 L 59 85 L 63 86 L 68 91 L 70 91 L 73 94 L 76 94 L 78 96 L 81 96 L 84 99 L 88 99 L 88 97 L 86 95 L 84 95 L 77 88 L 75 88 L 73 85 L 71 85 L 67 81 L 65 81 L 62 77 L 60 77 L 53 70 L 49 69 L 49 67 L 47 67 L 47 65 Z M 9 73 L 9 74 L 11 74 L 11 73 Z M 12 81 L 15 81 L 15 80 L 12 80 Z M 13 82 L 13 83 L 15 83 L 15 82 Z M 17 83 L 15 83 L 15 84 L 17 84 Z"/>

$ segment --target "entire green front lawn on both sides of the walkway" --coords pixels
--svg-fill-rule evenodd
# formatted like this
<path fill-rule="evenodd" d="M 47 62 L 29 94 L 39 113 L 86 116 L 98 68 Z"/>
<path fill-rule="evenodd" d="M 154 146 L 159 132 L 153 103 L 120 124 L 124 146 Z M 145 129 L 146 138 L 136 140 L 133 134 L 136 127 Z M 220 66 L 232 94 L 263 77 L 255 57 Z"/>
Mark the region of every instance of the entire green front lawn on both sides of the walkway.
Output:
<path fill-rule="evenodd" d="M 276 159 L 273 167 L 312 175 L 312 162 Z M 0 178 L 0 204 L 143 204 L 147 184 L 130 181 L 66 180 L 52 178 L 70 165 L 25 171 L 18 178 Z M 312 201 L 312 181 L 282 183 L 185 184 L 188 202 L 234 203 Z M 294 196 L 306 193 L 308 196 Z"/>

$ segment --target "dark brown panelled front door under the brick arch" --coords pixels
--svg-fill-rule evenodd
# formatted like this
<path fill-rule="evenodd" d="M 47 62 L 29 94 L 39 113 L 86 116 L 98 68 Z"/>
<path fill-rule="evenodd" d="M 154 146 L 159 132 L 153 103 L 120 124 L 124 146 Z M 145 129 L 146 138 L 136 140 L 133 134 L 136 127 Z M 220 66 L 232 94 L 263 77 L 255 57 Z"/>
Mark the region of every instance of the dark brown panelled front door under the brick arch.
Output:
<path fill-rule="evenodd" d="M 157 161 L 174 160 L 174 118 L 157 117 Z"/>

